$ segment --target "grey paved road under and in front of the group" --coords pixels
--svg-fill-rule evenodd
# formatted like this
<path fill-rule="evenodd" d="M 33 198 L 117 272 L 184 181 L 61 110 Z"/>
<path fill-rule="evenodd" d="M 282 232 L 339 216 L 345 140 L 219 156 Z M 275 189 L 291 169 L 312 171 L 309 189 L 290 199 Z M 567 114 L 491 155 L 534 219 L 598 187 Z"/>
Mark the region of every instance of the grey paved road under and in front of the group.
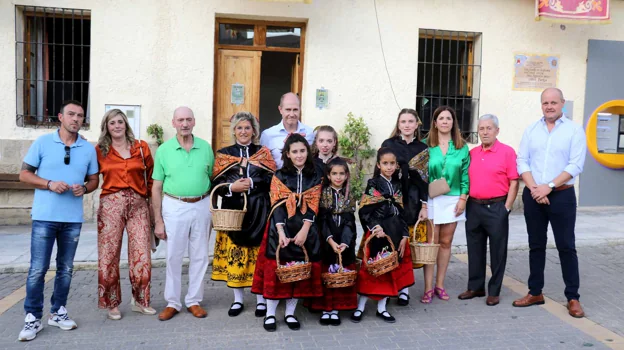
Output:
<path fill-rule="evenodd" d="M 556 263 L 556 251 L 549 251 L 547 287 L 552 298 L 562 298 L 561 275 Z M 617 308 L 622 296 L 621 273 L 624 247 L 579 249 L 582 264 L 582 301 L 589 317 L 618 334 L 623 334 L 623 316 Z M 554 260 L 554 261 L 553 261 Z M 524 281 L 528 271 L 528 253 L 511 252 L 509 275 Z M 97 274 L 95 271 L 75 272 L 68 309 L 79 324 L 77 330 L 64 332 L 47 327 L 30 343 L 17 342 L 22 325 L 22 302 L 0 315 L 0 349 L 606 349 L 596 339 L 586 335 L 540 307 L 514 308 L 511 301 L 518 294 L 502 290 L 502 303 L 496 307 L 485 305 L 483 298 L 460 301 L 456 296 L 466 285 L 467 266 L 453 258 L 449 267 L 447 290 L 449 302 L 434 300 L 431 305 L 419 303 L 422 294 L 422 273 L 416 271 L 417 283 L 410 290 L 413 299 L 401 308 L 390 302 L 389 311 L 397 318 L 395 324 L 385 324 L 374 316 L 370 303 L 364 320 L 359 324 L 343 317 L 340 327 L 323 327 L 318 315 L 298 308 L 302 321 L 300 331 L 290 331 L 282 322 L 283 305 L 278 309 L 278 332 L 267 333 L 262 320 L 253 315 L 255 297 L 246 294 L 248 309 L 239 317 L 227 316 L 232 302 L 231 291 L 222 283 L 206 280 L 203 305 L 209 315 L 195 319 L 182 312 L 168 322 L 155 316 L 130 312 L 127 304 L 130 287 L 127 270 L 122 281 L 124 304 L 121 321 L 106 319 L 105 311 L 97 309 Z M 186 278 L 186 276 L 184 277 Z M 162 297 L 164 269 L 153 273 L 153 306 L 165 306 Z M 0 274 L 2 293 L 17 289 L 24 275 Z M 12 287 L 11 287 L 12 286 Z M 46 300 L 53 282 L 46 284 Z M 185 287 L 184 287 L 185 288 Z M 183 289 L 184 289 L 183 288 Z M 610 301 L 609 301 L 610 300 Z M 608 304 L 602 304 L 609 301 Z M 47 306 L 46 306 L 47 308 Z M 620 310 L 620 312 L 618 312 Z"/>

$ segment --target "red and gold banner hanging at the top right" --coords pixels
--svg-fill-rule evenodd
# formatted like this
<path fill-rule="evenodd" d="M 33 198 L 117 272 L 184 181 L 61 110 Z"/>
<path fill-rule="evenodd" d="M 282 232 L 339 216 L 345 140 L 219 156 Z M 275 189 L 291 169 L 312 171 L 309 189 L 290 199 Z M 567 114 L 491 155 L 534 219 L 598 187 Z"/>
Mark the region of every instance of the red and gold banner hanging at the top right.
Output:
<path fill-rule="evenodd" d="M 535 19 L 564 23 L 610 23 L 609 0 L 535 0 Z"/>

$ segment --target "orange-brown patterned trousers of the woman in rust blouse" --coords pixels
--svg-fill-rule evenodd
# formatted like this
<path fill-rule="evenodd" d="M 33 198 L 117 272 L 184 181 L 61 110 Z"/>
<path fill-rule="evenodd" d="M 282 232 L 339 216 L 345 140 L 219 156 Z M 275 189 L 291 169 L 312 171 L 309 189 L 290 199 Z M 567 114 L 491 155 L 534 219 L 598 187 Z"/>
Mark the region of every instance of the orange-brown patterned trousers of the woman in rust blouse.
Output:
<path fill-rule="evenodd" d="M 98 210 L 98 307 L 121 303 L 119 259 L 124 228 L 128 232 L 128 265 L 132 296 L 144 307 L 150 303 L 152 257 L 147 201 L 131 189 L 100 198 Z"/>

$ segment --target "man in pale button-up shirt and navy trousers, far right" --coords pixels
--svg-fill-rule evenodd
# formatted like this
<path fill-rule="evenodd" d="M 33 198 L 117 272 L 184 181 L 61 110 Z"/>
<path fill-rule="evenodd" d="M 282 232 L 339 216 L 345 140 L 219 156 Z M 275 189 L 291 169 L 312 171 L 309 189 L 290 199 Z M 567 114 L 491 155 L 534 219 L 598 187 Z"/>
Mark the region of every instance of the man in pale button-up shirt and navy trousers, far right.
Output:
<path fill-rule="evenodd" d="M 544 266 L 548 224 L 559 251 L 561 272 L 568 299 L 568 313 L 584 317 L 579 303 L 579 269 L 574 225 L 574 181 L 583 172 L 587 145 L 585 131 L 563 114 L 563 93 L 556 88 L 542 92 L 543 117 L 531 124 L 520 142 L 518 173 L 526 184 L 522 194 L 529 235 L 529 293 L 513 306 L 544 304 Z"/>

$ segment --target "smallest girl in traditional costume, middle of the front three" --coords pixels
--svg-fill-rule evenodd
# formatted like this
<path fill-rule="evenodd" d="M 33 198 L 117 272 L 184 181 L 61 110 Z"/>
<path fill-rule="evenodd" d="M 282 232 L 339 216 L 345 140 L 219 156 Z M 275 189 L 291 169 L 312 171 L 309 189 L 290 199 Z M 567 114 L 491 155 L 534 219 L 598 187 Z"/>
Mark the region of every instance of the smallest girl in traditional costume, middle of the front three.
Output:
<path fill-rule="evenodd" d="M 318 134 L 317 134 L 318 135 Z M 342 255 L 345 269 L 355 271 L 355 200 L 349 191 L 349 166 L 339 157 L 326 165 L 323 177 L 319 226 L 322 244 L 322 268 L 328 272 L 336 271 L 338 255 Z M 323 296 L 308 302 L 311 310 L 321 310 L 322 325 L 340 325 L 339 310 L 354 310 L 357 307 L 355 285 L 344 288 L 323 287 Z"/>

